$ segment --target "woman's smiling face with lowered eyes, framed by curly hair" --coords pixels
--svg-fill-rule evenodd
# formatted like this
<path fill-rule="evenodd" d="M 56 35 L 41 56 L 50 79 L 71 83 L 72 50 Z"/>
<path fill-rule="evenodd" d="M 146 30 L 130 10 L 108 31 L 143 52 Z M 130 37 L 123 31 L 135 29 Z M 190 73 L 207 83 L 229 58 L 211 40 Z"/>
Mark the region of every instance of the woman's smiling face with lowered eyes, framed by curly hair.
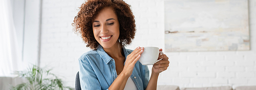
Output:
<path fill-rule="evenodd" d="M 119 43 L 119 22 L 112 8 L 103 8 L 93 20 L 93 34 L 103 48 L 112 48 Z"/>

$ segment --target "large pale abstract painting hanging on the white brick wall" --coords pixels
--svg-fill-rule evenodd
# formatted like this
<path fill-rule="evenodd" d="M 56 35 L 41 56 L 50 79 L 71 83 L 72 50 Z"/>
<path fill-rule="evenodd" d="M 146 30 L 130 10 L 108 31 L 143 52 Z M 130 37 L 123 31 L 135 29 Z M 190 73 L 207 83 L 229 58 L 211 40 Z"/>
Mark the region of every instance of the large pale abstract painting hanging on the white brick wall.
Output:
<path fill-rule="evenodd" d="M 165 51 L 250 49 L 247 0 L 164 1 Z"/>

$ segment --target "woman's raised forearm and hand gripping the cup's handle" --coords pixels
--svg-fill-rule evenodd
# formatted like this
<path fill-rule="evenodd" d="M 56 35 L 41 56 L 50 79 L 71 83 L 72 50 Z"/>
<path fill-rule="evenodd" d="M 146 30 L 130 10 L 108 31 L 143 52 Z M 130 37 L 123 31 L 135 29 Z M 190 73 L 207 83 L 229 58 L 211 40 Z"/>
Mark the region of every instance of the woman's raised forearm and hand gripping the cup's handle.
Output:
<path fill-rule="evenodd" d="M 162 51 L 162 49 L 160 49 L 159 51 Z M 152 74 L 150 77 L 150 81 L 147 84 L 146 90 L 157 89 L 157 80 L 158 80 L 159 73 L 167 70 L 169 66 L 169 61 L 168 61 L 169 58 L 165 54 L 160 55 L 158 59 L 160 58 L 163 58 L 163 59 L 153 65 Z"/>

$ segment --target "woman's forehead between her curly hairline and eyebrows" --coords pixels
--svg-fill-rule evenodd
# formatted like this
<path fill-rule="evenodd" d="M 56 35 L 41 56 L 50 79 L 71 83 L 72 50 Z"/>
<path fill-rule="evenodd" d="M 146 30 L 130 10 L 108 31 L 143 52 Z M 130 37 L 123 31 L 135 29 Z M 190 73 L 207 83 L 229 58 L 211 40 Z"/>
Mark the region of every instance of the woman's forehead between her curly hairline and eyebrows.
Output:
<path fill-rule="evenodd" d="M 117 15 L 114 11 L 113 8 L 111 7 L 105 7 L 103 9 L 101 9 L 98 13 L 98 15 L 96 16 L 95 20 L 101 20 L 101 19 L 109 19 L 109 18 L 114 18 L 117 19 Z"/>

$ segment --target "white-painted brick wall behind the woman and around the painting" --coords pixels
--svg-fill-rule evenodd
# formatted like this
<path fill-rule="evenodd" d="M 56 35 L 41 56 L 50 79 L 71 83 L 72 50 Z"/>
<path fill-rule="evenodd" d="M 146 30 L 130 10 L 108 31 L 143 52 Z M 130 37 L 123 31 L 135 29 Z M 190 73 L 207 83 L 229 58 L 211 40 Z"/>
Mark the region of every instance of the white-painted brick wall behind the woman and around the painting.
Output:
<path fill-rule="evenodd" d="M 164 51 L 164 0 L 124 0 L 132 6 L 137 33 L 128 49 L 156 46 Z M 43 0 L 40 65 L 49 65 L 75 86 L 78 58 L 89 51 L 72 32 L 72 22 L 83 0 Z M 180 87 L 256 85 L 256 0 L 249 0 L 250 51 L 172 52 L 168 70 L 158 84 Z M 152 66 L 149 66 L 151 69 Z"/>

